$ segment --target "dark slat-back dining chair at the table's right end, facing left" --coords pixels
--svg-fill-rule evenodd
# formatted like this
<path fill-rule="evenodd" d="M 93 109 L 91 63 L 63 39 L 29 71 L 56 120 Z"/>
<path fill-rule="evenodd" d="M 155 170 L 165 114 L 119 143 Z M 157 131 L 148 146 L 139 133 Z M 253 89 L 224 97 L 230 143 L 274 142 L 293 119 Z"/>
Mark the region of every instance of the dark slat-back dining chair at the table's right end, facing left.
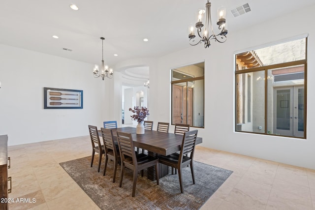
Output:
<path fill-rule="evenodd" d="M 198 130 L 191 130 L 184 133 L 181 152 L 179 154 L 173 153 L 168 156 L 164 155 L 159 156 L 159 163 L 171 166 L 172 168 L 176 168 L 178 170 L 179 183 L 182 193 L 184 193 L 182 177 L 183 167 L 190 165 L 192 182 L 193 184 L 195 184 L 195 176 L 193 170 L 193 154 L 196 145 L 197 133 Z M 190 153 L 190 155 L 186 156 L 185 154 L 188 153 Z"/>

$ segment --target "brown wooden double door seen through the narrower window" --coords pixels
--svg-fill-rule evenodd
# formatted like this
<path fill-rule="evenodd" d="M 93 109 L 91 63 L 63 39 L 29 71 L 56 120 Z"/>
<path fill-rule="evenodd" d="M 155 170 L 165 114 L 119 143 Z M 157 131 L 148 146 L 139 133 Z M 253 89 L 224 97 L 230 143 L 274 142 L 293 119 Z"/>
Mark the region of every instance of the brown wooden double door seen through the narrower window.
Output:
<path fill-rule="evenodd" d="M 172 124 L 192 126 L 193 89 L 176 84 L 172 86 Z"/>

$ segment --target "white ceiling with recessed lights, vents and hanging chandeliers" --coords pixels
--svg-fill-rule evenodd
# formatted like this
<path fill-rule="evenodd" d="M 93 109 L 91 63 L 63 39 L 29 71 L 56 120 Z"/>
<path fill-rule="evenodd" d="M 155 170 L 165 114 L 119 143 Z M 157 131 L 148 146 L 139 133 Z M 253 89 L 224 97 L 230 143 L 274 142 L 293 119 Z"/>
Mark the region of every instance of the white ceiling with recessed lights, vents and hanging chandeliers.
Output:
<path fill-rule="evenodd" d="M 79 10 L 72 10 L 69 7 L 72 3 Z M 206 0 L 1 0 L 0 43 L 89 62 L 92 72 L 93 63 L 100 64 L 101 36 L 105 37 L 104 60 L 110 66 L 123 60 L 160 57 L 188 48 L 188 25 L 195 22 L 195 12 L 204 9 L 205 3 Z M 213 22 L 217 19 L 217 8 L 226 7 L 228 31 L 232 32 L 307 7 L 314 0 L 213 0 L 211 3 Z M 249 3 L 252 11 L 234 17 L 230 10 L 245 3 Z M 149 41 L 144 42 L 144 38 Z M 127 75 L 125 70 L 120 69 Z"/>

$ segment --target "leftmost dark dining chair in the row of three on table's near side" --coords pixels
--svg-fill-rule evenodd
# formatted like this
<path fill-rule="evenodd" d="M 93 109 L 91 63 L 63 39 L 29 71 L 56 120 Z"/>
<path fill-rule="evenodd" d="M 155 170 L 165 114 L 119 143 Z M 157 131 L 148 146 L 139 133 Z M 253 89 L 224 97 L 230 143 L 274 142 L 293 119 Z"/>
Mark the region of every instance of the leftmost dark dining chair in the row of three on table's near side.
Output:
<path fill-rule="evenodd" d="M 93 166 L 93 160 L 95 152 L 99 154 L 99 160 L 98 160 L 98 170 L 100 169 L 100 163 L 102 161 L 102 155 L 105 154 L 105 148 L 104 145 L 101 145 L 99 141 L 99 136 L 97 132 L 97 127 L 93 125 L 89 125 L 89 131 L 90 131 L 90 137 L 91 137 L 91 143 L 92 143 L 92 160 L 91 160 L 91 167 Z"/>

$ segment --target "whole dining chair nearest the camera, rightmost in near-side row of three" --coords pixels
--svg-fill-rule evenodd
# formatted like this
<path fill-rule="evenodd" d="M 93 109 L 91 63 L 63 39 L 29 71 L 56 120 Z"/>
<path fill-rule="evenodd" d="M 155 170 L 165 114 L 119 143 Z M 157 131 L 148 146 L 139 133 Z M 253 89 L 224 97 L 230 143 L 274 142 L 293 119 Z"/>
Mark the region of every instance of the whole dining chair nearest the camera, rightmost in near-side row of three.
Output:
<path fill-rule="evenodd" d="M 136 190 L 138 171 L 141 171 L 143 177 L 143 169 L 155 166 L 158 184 L 158 158 L 143 153 L 136 155 L 131 133 L 117 131 L 117 140 L 122 161 L 119 187 L 122 187 L 125 167 L 133 170 L 132 197 Z"/>

